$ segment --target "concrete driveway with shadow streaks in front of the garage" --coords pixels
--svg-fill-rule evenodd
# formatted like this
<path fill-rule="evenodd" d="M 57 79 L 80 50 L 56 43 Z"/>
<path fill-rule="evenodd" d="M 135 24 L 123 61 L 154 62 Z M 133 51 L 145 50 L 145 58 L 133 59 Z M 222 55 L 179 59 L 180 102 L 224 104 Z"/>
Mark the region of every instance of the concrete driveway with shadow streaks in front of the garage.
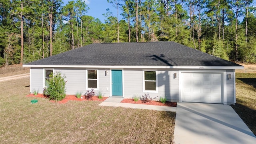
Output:
<path fill-rule="evenodd" d="M 256 144 L 256 137 L 231 106 L 178 102 L 175 144 Z"/>

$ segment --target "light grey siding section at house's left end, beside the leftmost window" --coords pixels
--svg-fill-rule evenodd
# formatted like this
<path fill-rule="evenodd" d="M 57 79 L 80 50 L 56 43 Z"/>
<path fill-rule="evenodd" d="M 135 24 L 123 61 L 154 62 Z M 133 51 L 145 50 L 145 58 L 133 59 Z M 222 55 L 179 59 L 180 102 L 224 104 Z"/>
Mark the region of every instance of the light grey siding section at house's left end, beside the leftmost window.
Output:
<path fill-rule="evenodd" d="M 30 89 L 32 90 L 30 93 L 33 92 L 33 90 L 38 90 L 39 93 L 43 93 L 44 90 L 44 71 L 43 68 L 31 68 L 30 69 L 31 74 L 31 84 Z"/>

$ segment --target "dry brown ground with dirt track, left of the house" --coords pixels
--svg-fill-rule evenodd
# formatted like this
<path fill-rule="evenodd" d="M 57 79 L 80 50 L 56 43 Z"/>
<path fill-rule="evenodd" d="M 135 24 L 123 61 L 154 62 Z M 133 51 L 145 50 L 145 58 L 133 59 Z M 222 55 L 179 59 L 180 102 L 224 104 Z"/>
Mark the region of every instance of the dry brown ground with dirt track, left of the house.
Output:
<path fill-rule="evenodd" d="M 0 68 L 0 78 L 6 77 L 6 76 L 13 76 L 16 74 L 26 74 L 29 73 L 30 68 L 28 67 L 22 67 L 20 64 L 10 65 L 10 66 L 4 66 Z"/>

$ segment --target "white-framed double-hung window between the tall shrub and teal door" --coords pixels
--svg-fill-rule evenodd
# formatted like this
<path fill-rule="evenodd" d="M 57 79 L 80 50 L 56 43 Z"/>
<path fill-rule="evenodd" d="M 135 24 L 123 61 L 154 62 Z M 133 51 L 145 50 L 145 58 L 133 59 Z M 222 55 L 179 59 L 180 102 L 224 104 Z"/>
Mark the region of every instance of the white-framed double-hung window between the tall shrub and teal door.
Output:
<path fill-rule="evenodd" d="M 87 88 L 98 88 L 98 70 L 87 70 Z"/>

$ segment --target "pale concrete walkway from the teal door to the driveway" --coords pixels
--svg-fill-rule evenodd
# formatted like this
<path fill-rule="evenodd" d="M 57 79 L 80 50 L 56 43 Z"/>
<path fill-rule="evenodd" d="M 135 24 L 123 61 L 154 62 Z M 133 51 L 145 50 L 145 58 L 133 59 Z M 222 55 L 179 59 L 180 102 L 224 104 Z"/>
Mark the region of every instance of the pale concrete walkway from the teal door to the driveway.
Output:
<path fill-rule="evenodd" d="M 99 106 L 116 106 L 116 107 L 124 107 L 124 108 L 139 108 L 139 109 L 147 109 L 147 110 L 160 110 L 160 111 L 170 111 L 176 112 L 176 107 L 170 106 L 152 106 L 146 104 L 128 104 L 122 103 L 123 98 L 109 97 L 104 102 L 100 103 Z"/>

